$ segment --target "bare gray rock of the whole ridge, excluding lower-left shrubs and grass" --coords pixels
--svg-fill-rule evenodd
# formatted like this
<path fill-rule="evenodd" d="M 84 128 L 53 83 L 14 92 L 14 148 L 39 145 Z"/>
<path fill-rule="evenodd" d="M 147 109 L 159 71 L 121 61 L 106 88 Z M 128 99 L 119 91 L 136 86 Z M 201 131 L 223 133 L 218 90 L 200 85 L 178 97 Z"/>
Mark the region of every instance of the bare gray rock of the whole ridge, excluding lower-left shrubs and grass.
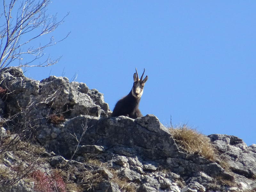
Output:
<path fill-rule="evenodd" d="M 0 82 L 9 93 L 0 102 L 0 116 L 14 117 L 8 129 L 33 133 L 34 141 L 49 152 L 44 153 L 50 158 L 49 166 L 68 164 L 77 170 L 70 176 L 74 181 L 88 170 L 100 175 L 94 191 L 122 191 L 115 178 L 141 192 L 256 189 L 256 145 L 248 147 L 235 136 L 209 135 L 226 159 L 228 171 L 216 162 L 181 150 L 154 115 L 109 117 L 111 111 L 103 94 L 89 90 L 84 83 L 69 83 L 66 77 L 56 76 L 39 82 L 25 77 L 19 68 L 2 70 Z M 0 129 L 0 139 L 6 136 L 5 128 Z M 12 166 L 11 154 L 8 158 L 4 164 Z M 102 163 L 89 165 L 88 159 Z"/>

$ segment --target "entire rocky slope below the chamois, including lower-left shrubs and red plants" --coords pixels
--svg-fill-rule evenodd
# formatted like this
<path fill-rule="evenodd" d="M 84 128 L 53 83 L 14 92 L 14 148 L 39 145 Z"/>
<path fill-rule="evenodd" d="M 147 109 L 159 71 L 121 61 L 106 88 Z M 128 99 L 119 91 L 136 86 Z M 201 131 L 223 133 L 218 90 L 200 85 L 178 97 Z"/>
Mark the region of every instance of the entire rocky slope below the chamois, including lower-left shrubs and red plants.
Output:
<path fill-rule="evenodd" d="M 5 68 L 0 87 L 2 191 L 256 190 L 256 145 L 236 136 L 208 136 L 223 165 L 187 153 L 154 115 L 109 117 L 84 83 Z"/>

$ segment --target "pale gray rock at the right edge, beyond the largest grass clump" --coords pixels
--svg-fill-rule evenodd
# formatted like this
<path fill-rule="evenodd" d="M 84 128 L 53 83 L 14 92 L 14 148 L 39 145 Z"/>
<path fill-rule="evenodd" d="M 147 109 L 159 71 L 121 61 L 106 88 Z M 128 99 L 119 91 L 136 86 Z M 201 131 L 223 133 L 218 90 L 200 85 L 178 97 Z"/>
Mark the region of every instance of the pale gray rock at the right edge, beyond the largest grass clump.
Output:
<path fill-rule="evenodd" d="M 235 182 L 245 189 L 255 189 L 255 144 L 248 147 L 242 139 L 231 135 L 212 134 L 209 138 L 226 160 Z"/>

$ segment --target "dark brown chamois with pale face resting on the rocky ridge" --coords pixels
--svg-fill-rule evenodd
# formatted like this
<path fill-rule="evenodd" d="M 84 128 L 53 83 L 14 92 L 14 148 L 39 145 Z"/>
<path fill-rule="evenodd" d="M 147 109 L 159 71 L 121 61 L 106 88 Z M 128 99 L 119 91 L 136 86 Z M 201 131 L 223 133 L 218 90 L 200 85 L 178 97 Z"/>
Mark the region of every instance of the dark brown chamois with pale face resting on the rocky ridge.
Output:
<path fill-rule="evenodd" d="M 142 117 L 142 114 L 139 110 L 140 97 L 143 93 L 143 87 L 146 81 L 148 80 L 148 76 L 142 80 L 142 77 L 145 72 L 142 73 L 142 76 L 139 79 L 137 68 L 135 68 L 136 73 L 133 74 L 133 86 L 132 90 L 128 95 L 124 98 L 117 101 L 116 106 L 113 110 L 112 117 L 116 116 L 128 116 L 132 119 L 136 119 L 137 117 Z"/>

